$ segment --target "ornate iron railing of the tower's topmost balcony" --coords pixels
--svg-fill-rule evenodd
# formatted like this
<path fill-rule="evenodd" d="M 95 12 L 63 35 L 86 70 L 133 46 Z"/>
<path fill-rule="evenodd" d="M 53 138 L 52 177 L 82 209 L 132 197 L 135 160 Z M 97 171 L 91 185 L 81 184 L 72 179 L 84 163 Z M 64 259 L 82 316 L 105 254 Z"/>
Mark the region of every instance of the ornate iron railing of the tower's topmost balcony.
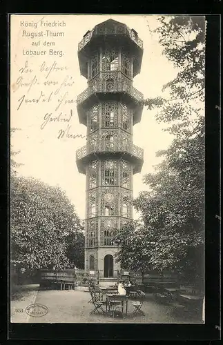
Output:
<path fill-rule="evenodd" d="M 130 29 L 126 26 L 114 26 L 113 28 L 106 28 L 106 27 L 96 27 L 93 28 L 93 30 L 89 30 L 84 35 L 84 38 L 81 39 L 81 41 L 78 43 L 78 50 L 81 50 L 86 46 L 86 44 L 90 41 L 90 39 L 94 36 L 100 36 L 101 34 L 122 34 L 122 35 L 128 35 L 130 39 L 139 46 L 139 48 L 143 49 L 143 41 L 138 37 L 135 30 Z"/>

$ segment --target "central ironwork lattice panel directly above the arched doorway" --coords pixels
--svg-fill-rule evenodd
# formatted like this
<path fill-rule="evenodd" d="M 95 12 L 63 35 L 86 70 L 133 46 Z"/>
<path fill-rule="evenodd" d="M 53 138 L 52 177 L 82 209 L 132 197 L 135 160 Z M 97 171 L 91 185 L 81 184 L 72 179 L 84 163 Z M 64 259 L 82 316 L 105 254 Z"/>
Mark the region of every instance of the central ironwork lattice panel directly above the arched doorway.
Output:
<path fill-rule="evenodd" d="M 114 246 L 113 237 L 117 232 L 117 219 L 101 219 L 100 245 Z"/>

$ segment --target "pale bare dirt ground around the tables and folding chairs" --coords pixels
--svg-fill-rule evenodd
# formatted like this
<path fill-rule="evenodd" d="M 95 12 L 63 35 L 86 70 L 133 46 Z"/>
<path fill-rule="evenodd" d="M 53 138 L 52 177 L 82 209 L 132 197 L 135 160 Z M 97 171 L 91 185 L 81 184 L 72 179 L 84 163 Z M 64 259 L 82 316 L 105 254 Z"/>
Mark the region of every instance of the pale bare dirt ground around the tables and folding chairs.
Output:
<path fill-rule="evenodd" d="M 202 324 L 202 320 L 190 315 L 182 306 L 156 302 L 152 294 L 146 294 L 142 306 L 145 316 L 133 317 L 133 300 L 128 301 L 128 315 L 90 315 L 94 306 L 88 303 L 90 293 L 83 290 L 39 290 L 38 285 L 23 286 L 11 299 L 11 322 L 16 323 L 145 323 L 145 324 Z M 25 312 L 30 304 L 47 306 L 48 313 L 31 317 Z"/>

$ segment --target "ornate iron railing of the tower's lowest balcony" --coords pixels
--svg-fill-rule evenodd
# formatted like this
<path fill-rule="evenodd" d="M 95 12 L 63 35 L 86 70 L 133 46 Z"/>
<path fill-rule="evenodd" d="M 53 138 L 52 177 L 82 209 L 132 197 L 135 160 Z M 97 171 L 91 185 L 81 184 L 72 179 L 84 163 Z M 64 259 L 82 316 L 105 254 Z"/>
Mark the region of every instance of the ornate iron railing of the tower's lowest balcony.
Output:
<path fill-rule="evenodd" d="M 144 150 L 139 148 L 139 146 L 134 145 L 133 143 L 121 143 L 117 140 L 113 144 L 104 144 L 103 141 L 99 141 L 97 145 L 86 145 L 79 148 L 76 151 L 76 159 L 82 159 L 87 155 L 92 153 L 105 153 L 105 152 L 126 152 L 127 154 L 133 155 L 137 159 L 143 160 Z"/>

